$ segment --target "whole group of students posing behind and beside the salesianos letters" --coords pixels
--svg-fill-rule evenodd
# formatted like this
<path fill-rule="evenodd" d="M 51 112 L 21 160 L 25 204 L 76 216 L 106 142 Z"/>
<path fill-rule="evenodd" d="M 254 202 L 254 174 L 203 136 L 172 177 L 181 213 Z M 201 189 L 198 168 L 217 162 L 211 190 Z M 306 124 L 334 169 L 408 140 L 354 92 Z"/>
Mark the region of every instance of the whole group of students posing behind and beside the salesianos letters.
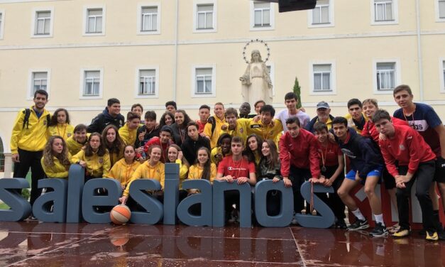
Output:
<path fill-rule="evenodd" d="M 289 92 L 285 94 L 287 109 L 278 114 L 261 100 L 254 105 L 256 114 L 250 114 L 248 103 L 241 105 L 238 114 L 218 102 L 214 115 L 210 115 L 209 106 L 202 105 L 199 119 L 193 121 L 186 111 L 177 109 L 175 102 L 167 102 L 159 122 L 154 111 L 146 111 L 141 120 L 141 104 L 134 104 L 125 120 L 119 100 L 109 99 L 92 124 L 73 128 L 65 109 L 57 109 L 45 122 L 48 94 L 39 90 L 31 112 L 19 112 L 13 128 L 14 177 L 23 177 L 31 166 L 33 184 L 43 178 L 36 172 L 35 160 L 30 159 L 40 153 L 39 165 L 46 177 L 67 178 L 71 164 L 82 165 L 86 180 L 119 180 L 123 189 L 119 201 L 138 209 L 128 195 L 131 182 L 150 178 L 158 180 L 163 188 L 164 163 L 177 163 L 180 199 L 198 192 L 182 190 L 185 179 L 251 186 L 263 179 L 282 180 L 285 187 L 292 187 L 296 213 L 305 208 L 300 187 L 309 180 L 334 187 L 334 193 L 319 197 L 333 210 L 334 227 L 351 231 L 369 227 L 350 195 L 361 183 L 375 217 L 370 235 L 388 236 L 380 197 L 375 194 L 375 187 L 383 179 L 398 210 L 399 227 L 392 234 L 397 238 L 410 234 L 409 197 L 417 180 L 416 196 L 426 239 L 435 241 L 443 238 L 435 190 L 437 185 L 445 202 L 445 128 L 432 107 L 412 101 L 407 85 L 396 87 L 393 94 L 401 107 L 394 116 L 378 109 L 375 99 L 351 99 L 346 116 L 332 116 L 329 104 L 319 102 L 317 116 L 311 119 L 304 109 L 297 109 L 297 95 Z M 26 113 L 30 113 L 28 119 Z M 32 191 L 31 204 L 40 194 L 36 185 L 32 185 Z M 150 194 L 163 201 L 163 190 Z M 225 201 L 226 220 L 234 222 L 238 191 L 225 192 Z M 280 192 L 268 192 L 267 206 L 270 215 L 280 212 Z M 356 217 L 349 226 L 345 223 L 345 206 Z M 199 212 L 199 207 L 194 212 Z"/>

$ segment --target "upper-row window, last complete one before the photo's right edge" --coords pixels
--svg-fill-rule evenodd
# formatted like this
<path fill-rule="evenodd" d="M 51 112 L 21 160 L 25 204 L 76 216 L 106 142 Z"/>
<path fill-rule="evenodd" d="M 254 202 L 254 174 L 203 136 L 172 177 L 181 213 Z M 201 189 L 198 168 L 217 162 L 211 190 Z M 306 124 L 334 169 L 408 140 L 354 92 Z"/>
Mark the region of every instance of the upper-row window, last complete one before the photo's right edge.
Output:
<path fill-rule="evenodd" d="M 398 0 L 371 0 L 372 16 L 371 24 L 395 24 L 398 23 Z"/>

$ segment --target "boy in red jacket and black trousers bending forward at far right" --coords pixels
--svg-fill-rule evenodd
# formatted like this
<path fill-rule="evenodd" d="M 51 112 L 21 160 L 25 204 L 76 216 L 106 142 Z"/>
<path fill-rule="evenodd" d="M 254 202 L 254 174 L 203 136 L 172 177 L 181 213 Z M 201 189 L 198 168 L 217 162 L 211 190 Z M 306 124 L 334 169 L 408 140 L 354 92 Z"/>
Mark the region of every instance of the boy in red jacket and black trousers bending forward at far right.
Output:
<path fill-rule="evenodd" d="M 429 196 L 435 171 L 436 156 L 424 138 L 410 126 L 392 124 L 390 114 L 378 110 L 373 116 L 375 128 L 387 138 L 379 140 L 379 146 L 389 173 L 397 185 L 397 209 L 400 230 L 392 234 L 404 237 L 410 234 L 409 197 L 414 180 L 417 179 L 416 196 L 422 209 L 422 223 L 427 230 L 427 240 L 436 241 L 439 236 L 434 227 L 433 205 Z M 397 165 L 396 165 L 397 161 Z"/>

